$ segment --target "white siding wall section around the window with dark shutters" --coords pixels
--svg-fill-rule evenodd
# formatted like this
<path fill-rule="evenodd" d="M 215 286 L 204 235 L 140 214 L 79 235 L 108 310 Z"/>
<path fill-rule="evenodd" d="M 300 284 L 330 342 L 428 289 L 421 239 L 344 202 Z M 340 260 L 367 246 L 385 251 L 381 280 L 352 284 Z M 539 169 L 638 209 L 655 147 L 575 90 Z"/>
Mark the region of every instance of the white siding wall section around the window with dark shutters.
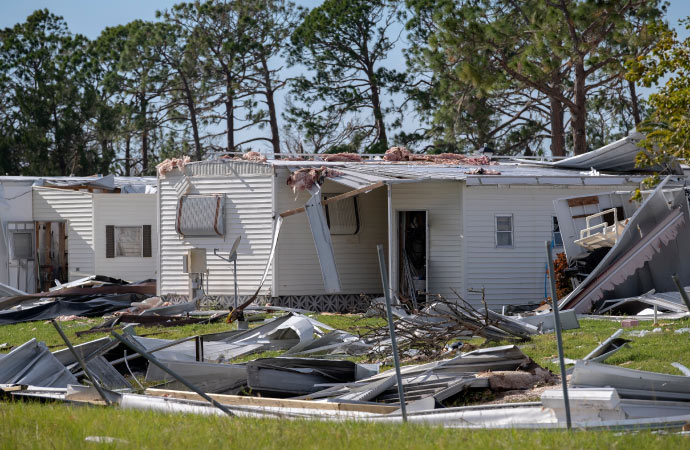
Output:
<path fill-rule="evenodd" d="M 127 281 L 158 278 L 156 196 L 151 194 L 94 194 L 96 273 Z M 105 227 L 151 225 L 151 257 L 105 257 Z"/>

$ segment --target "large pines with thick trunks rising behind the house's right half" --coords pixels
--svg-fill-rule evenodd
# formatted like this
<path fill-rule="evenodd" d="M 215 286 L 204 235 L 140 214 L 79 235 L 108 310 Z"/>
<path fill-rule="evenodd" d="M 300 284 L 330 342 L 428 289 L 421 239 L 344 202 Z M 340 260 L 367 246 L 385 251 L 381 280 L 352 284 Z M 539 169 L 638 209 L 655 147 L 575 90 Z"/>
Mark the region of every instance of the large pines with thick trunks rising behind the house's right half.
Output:
<path fill-rule="evenodd" d="M 612 111 L 605 126 L 614 132 L 630 128 L 611 105 L 587 102 L 616 92 L 636 108 L 617 89 L 623 62 L 653 44 L 665 10 L 661 0 L 407 3 L 408 61 L 422 74 L 412 98 L 430 117 L 429 134 L 460 149 L 487 142 L 511 153 L 548 138 L 555 155 L 565 154 L 568 122 L 575 153 L 588 149 L 588 107 Z"/>

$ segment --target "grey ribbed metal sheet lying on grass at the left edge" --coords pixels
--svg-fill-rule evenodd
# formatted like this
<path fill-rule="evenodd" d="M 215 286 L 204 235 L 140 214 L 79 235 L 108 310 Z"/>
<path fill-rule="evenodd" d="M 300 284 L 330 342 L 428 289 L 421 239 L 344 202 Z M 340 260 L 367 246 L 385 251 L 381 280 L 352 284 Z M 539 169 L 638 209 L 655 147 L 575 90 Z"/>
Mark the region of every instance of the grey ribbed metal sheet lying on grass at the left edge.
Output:
<path fill-rule="evenodd" d="M 0 359 L 0 383 L 64 388 L 77 379 L 43 342 L 31 339 Z"/>

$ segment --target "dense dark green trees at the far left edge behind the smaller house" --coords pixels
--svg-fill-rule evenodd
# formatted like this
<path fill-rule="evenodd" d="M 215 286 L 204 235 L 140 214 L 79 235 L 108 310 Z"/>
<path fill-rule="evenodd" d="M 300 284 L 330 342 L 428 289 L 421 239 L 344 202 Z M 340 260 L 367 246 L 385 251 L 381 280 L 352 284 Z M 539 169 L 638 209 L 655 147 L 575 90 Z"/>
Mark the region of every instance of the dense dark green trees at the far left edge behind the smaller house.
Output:
<path fill-rule="evenodd" d="M 112 153 L 89 132 L 101 110 L 87 39 L 38 10 L 0 31 L 0 170 L 23 175 L 90 175 Z"/>

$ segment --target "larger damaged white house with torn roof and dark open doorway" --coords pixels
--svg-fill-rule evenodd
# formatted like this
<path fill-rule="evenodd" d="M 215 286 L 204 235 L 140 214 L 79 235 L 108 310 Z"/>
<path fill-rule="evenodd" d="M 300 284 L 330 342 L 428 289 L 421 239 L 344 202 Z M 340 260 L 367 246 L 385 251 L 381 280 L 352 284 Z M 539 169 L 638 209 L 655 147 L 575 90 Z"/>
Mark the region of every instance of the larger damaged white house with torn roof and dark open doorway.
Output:
<path fill-rule="evenodd" d="M 404 301 L 536 304 L 547 295 L 544 242 L 563 251 L 554 200 L 637 188 L 645 175 L 628 166 L 635 142 L 554 165 L 465 158 L 171 166 L 158 180 L 159 293 L 197 295 L 194 288 L 227 303 L 236 254 L 242 299 L 258 293 L 273 305 L 351 310 L 363 295 L 382 294 L 383 244 L 391 288 Z M 311 182 L 300 183 L 303 174 Z"/>

